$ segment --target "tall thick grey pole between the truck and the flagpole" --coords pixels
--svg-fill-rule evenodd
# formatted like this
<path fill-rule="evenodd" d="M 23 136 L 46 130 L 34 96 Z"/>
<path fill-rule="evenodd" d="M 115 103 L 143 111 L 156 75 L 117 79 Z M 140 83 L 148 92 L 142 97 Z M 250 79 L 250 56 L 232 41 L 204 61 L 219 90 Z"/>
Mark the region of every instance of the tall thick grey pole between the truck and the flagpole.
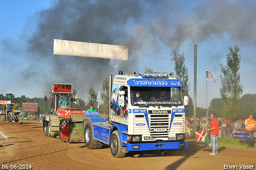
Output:
<path fill-rule="evenodd" d="M 197 45 L 194 44 L 194 132 L 196 132 L 196 68 L 197 68 Z"/>

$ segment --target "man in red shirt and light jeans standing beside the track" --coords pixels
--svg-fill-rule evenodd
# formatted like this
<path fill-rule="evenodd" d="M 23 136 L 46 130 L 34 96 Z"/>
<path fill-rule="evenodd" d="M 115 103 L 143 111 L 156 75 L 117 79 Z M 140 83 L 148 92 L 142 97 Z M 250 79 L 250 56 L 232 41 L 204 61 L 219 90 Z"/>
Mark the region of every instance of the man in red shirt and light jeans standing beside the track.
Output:
<path fill-rule="evenodd" d="M 215 117 L 216 117 L 216 114 L 212 113 L 211 114 L 212 122 L 210 125 L 210 129 L 207 129 L 207 130 L 210 130 L 210 136 L 212 141 L 212 153 L 210 153 L 209 155 L 219 154 L 218 145 L 217 145 L 217 138 L 219 135 L 219 122 Z"/>

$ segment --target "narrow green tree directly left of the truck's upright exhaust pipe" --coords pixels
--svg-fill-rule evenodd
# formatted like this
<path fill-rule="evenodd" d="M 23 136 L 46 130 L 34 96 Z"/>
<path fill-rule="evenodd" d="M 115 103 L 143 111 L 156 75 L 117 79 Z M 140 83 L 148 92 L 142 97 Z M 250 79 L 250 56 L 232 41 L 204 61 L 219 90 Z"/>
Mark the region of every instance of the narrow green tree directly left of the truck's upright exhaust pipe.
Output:
<path fill-rule="evenodd" d="M 109 95 L 108 88 L 109 88 L 109 79 L 104 78 L 102 80 L 102 90 L 100 92 L 100 98 L 103 102 L 101 104 L 103 113 L 108 112 L 108 95 Z"/>

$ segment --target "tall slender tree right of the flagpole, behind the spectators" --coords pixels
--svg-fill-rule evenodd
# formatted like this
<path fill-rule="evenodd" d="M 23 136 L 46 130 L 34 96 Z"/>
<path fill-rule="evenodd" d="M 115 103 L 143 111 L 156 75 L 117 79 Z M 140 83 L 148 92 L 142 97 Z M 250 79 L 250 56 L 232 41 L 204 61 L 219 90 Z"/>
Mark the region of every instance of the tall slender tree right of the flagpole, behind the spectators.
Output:
<path fill-rule="evenodd" d="M 220 63 L 220 96 L 224 102 L 224 114 L 227 119 L 234 119 L 239 110 L 240 96 L 243 92 L 243 86 L 240 84 L 241 54 L 238 54 L 239 47 L 229 48 L 230 52 L 226 55 L 227 66 Z"/>

